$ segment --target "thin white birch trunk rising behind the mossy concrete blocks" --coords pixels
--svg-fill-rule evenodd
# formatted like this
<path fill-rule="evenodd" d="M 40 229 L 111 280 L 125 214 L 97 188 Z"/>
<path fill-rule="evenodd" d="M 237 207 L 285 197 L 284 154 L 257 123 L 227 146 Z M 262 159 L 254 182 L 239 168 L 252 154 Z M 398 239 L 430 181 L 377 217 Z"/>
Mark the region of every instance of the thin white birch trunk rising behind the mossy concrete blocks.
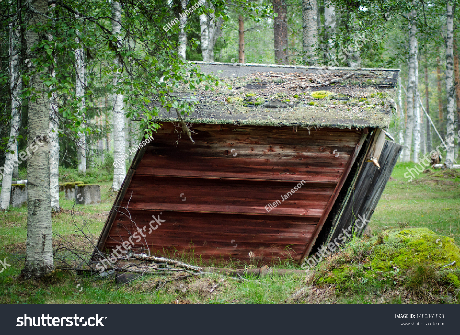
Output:
<path fill-rule="evenodd" d="M 78 43 L 78 38 L 76 40 Z M 84 51 L 83 47 L 75 49 L 75 94 L 77 98 L 81 99 L 80 102 L 80 114 L 84 116 L 85 114 L 85 61 L 84 61 Z M 85 133 L 78 133 L 78 170 L 81 172 L 86 172 L 86 136 Z"/>

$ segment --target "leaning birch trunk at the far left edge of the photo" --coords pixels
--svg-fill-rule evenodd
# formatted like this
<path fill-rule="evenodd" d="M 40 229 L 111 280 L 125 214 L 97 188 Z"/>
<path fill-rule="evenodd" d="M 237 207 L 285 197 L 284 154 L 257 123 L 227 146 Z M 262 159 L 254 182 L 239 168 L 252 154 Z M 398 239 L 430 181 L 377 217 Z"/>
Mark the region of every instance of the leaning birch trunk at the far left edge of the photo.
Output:
<path fill-rule="evenodd" d="M 0 208 L 6 210 L 10 205 L 11 195 L 11 178 L 13 170 L 21 162 L 17 159 L 17 139 L 19 127 L 21 126 L 21 102 L 19 95 L 22 90 L 22 79 L 20 74 L 20 28 L 15 23 L 9 24 L 10 45 L 9 45 L 9 75 L 11 91 L 11 130 L 8 140 L 8 149 L 10 152 L 5 156 L 5 168 L 2 173 L 2 188 L 0 193 Z M 0 177 L 1 178 L 1 177 Z"/>

